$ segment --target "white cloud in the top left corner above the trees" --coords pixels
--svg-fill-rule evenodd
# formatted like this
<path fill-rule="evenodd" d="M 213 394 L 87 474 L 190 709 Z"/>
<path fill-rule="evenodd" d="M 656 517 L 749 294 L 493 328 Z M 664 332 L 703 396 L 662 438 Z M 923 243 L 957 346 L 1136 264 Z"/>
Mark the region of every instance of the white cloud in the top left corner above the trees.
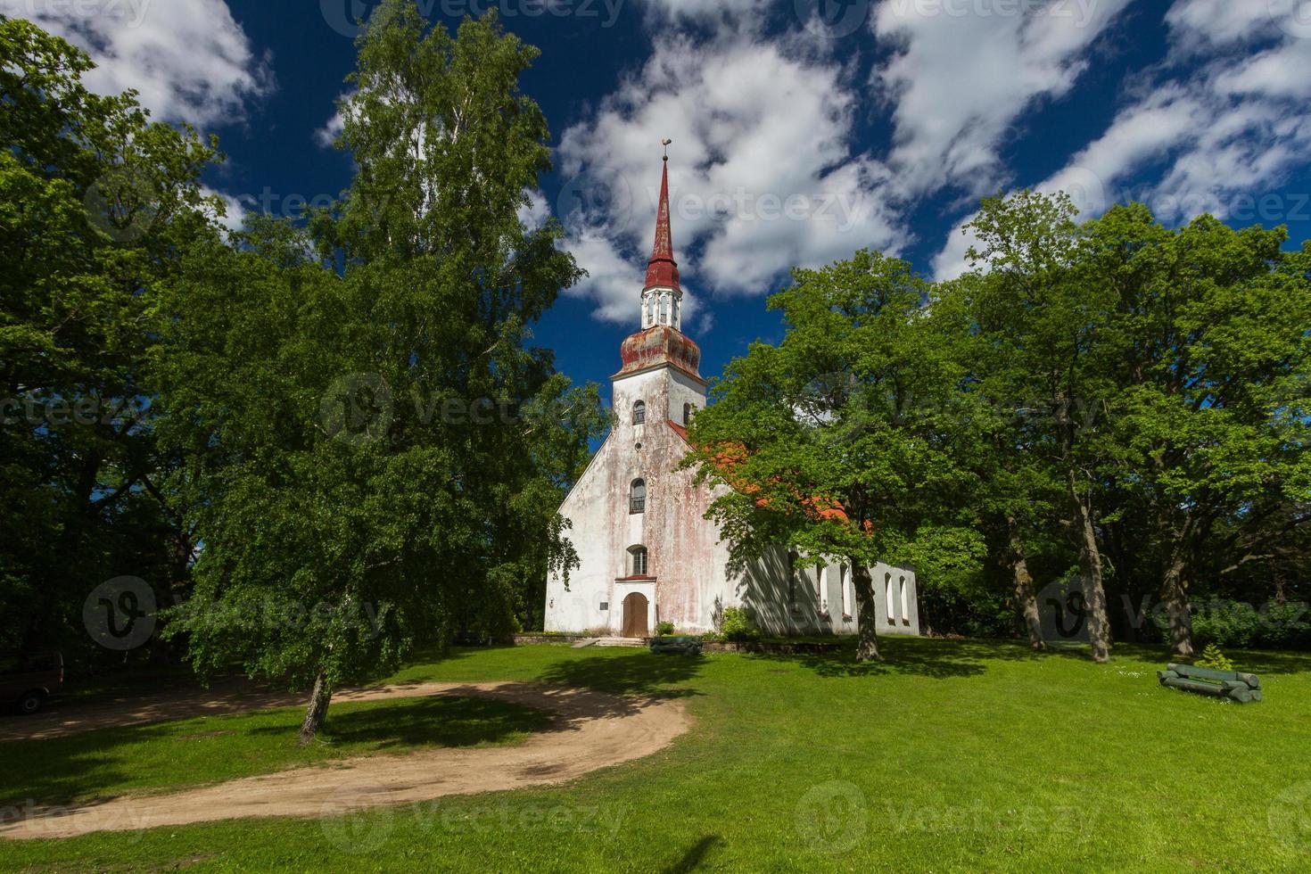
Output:
<path fill-rule="evenodd" d="M 97 68 L 87 86 L 130 88 L 156 119 L 197 127 L 240 122 L 273 88 L 224 0 L 0 0 L 0 13 L 33 21 L 81 47 Z"/>

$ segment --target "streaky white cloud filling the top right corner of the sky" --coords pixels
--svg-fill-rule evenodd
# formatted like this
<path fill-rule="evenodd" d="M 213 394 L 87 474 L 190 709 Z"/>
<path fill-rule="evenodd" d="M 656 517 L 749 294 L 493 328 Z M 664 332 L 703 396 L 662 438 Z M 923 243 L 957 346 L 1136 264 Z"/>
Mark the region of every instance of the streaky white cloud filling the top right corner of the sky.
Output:
<path fill-rule="evenodd" d="M 1311 161 L 1311 41 L 1278 26 L 1273 8 L 1179 0 L 1165 16 L 1169 59 L 1145 71 L 1105 132 L 1034 187 L 1070 193 L 1083 218 L 1139 200 L 1167 223 L 1210 212 L 1270 225 L 1304 208 L 1276 191 Z M 968 269 L 968 221 L 933 258 L 937 278 Z"/>

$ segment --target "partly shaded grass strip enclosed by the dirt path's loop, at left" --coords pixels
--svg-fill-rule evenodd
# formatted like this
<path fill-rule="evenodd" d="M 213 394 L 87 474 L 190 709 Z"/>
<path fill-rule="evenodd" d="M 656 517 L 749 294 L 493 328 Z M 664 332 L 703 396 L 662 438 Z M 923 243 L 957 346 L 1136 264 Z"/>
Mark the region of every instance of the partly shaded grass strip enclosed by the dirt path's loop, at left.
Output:
<path fill-rule="evenodd" d="M 278 708 L 0 743 L 0 808 L 194 786 L 417 747 L 520 743 L 551 714 L 481 697 L 341 702 L 329 709 L 317 740 L 300 747 L 303 718 L 303 708 Z"/>

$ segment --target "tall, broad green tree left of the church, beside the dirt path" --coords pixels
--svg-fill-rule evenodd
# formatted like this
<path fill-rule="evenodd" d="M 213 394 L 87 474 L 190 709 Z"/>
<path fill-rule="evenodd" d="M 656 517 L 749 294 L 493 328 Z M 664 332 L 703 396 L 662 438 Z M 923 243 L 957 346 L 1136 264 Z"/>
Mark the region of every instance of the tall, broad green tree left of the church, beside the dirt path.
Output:
<path fill-rule="evenodd" d="M 309 233 L 257 220 L 197 249 L 159 313 L 172 485 L 203 540 L 170 633 L 202 670 L 312 687 L 302 742 L 416 642 L 514 630 L 530 578 L 577 561 L 555 510 L 603 421 L 526 345 L 579 276 L 558 224 L 519 218 L 549 169 L 517 85 L 535 51 L 400 0 L 358 51 L 340 202 Z"/>

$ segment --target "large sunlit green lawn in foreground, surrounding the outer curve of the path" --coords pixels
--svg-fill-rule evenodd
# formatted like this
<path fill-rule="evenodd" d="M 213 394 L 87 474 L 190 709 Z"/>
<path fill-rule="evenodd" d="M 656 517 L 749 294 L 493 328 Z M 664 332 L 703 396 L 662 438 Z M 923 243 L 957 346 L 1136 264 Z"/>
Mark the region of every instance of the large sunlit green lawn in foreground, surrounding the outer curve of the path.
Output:
<path fill-rule="evenodd" d="M 1311 656 L 1232 654 L 1265 685 L 1234 705 L 1159 688 L 1164 658 L 1143 649 L 1099 666 L 882 646 L 868 668 L 850 651 L 463 650 L 395 679 L 676 694 L 696 725 L 560 788 L 0 841 L 0 869 L 1311 870 Z"/>

